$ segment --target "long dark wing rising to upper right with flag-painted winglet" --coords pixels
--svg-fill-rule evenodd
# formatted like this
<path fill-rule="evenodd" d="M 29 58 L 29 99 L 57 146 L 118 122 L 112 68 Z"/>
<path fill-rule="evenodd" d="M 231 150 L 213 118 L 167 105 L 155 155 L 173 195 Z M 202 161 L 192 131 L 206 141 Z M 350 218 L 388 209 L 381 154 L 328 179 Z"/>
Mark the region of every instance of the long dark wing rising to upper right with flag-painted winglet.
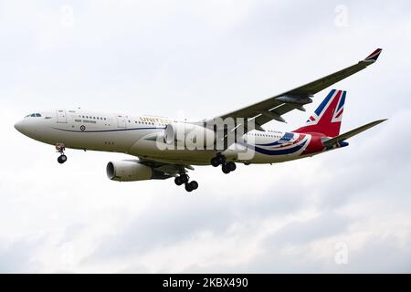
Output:
<path fill-rule="evenodd" d="M 314 94 L 321 91 L 322 89 L 326 89 L 332 86 L 332 84 L 344 78 L 347 78 L 358 71 L 363 70 L 364 68 L 367 68 L 377 60 L 377 58 L 381 54 L 381 51 L 381 48 L 377 48 L 370 56 L 365 57 L 364 60 L 359 61 L 353 66 L 343 68 L 338 72 L 312 81 L 308 84 L 300 86 L 297 89 L 283 92 L 272 98 L 259 101 L 240 110 L 228 112 L 227 114 L 224 114 L 217 118 L 222 118 L 224 120 L 228 117 L 231 117 L 234 119 L 244 118 L 248 120 L 254 120 L 255 129 L 257 130 L 264 130 L 261 128 L 261 126 L 269 122 L 270 120 L 279 120 L 285 122 L 285 120 L 282 118 L 282 115 L 291 110 L 305 111 L 303 105 L 311 103 L 311 98 Z"/>

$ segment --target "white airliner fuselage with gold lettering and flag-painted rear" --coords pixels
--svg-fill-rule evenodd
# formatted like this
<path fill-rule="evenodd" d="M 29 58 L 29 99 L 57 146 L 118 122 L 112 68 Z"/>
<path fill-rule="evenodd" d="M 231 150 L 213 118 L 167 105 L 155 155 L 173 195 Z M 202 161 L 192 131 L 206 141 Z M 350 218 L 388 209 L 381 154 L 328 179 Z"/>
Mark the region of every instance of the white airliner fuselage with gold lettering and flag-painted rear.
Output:
<path fill-rule="evenodd" d="M 209 164 L 216 155 L 215 150 L 160 149 L 155 137 L 163 134 L 167 124 L 178 123 L 177 120 L 87 110 L 51 110 L 34 115 L 20 120 L 15 127 L 26 136 L 47 144 L 64 143 L 66 148 L 123 152 L 158 162 L 194 165 Z M 258 151 L 253 150 L 252 156 L 242 159 L 238 152 L 246 149 L 245 144 L 236 143 L 224 151 L 227 160 L 249 163 L 290 161 L 308 156 L 303 151 L 311 142 L 310 134 L 281 131 L 253 130 L 243 138 L 248 151 L 255 145 Z"/>

